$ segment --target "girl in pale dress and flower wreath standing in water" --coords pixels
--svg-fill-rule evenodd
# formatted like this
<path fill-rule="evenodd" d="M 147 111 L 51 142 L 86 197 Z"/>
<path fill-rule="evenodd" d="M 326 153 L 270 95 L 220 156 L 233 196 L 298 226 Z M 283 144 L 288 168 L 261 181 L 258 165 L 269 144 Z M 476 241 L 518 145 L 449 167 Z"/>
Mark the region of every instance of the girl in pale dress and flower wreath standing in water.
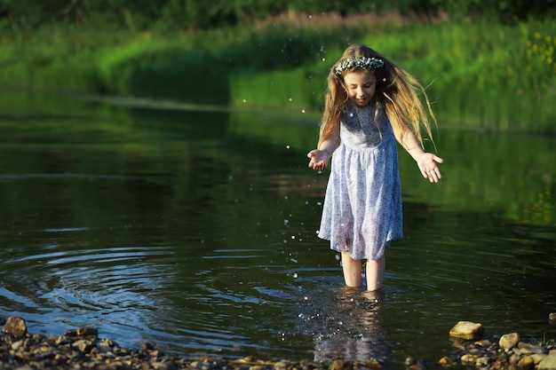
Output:
<path fill-rule="evenodd" d="M 425 98 L 425 105 L 418 93 Z M 332 154 L 319 237 L 338 251 L 346 285 L 382 287 L 385 248 L 403 237 L 396 140 L 423 177 L 438 183 L 442 159 L 425 153 L 422 131 L 432 138 L 434 115 L 423 86 L 365 45 L 352 45 L 330 68 L 317 149 L 309 167 L 323 169 Z"/>

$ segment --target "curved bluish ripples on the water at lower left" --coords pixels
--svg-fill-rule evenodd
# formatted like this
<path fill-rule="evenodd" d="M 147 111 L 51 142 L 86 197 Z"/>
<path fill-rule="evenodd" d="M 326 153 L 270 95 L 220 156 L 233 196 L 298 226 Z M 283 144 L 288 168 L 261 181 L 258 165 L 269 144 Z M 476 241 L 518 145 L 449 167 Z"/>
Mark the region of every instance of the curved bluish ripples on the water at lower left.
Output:
<path fill-rule="evenodd" d="M 48 248 L 45 248 L 48 249 Z M 3 258 L 0 308 L 26 318 L 34 332 L 61 334 L 95 326 L 131 342 L 164 306 L 157 289 L 172 279 L 149 262 L 170 253 L 163 247 L 15 251 Z M 21 255 L 20 255 L 21 254 Z"/>

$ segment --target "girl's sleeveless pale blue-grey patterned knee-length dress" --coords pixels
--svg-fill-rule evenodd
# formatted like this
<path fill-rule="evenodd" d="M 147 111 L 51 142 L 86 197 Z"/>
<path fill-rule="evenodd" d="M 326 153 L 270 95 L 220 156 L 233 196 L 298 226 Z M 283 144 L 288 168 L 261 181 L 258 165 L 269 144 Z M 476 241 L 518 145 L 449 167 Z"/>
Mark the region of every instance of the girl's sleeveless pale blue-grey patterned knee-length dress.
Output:
<path fill-rule="evenodd" d="M 398 146 L 383 109 L 352 101 L 340 115 L 319 238 L 353 259 L 377 260 L 390 240 L 403 238 Z"/>

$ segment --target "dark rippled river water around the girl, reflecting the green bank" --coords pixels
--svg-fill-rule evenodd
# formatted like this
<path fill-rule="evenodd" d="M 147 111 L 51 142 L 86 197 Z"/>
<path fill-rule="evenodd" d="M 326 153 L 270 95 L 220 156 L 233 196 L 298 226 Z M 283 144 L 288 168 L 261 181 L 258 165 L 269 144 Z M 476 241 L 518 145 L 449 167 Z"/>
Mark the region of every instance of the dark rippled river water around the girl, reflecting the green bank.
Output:
<path fill-rule="evenodd" d="M 447 354 L 461 319 L 556 335 L 554 139 L 441 130 L 441 186 L 401 153 L 406 239 L 372 297 L 315 236 L 313 118 L 4 101 L 0 319 L 32 333 L 393 364 Z"/>

